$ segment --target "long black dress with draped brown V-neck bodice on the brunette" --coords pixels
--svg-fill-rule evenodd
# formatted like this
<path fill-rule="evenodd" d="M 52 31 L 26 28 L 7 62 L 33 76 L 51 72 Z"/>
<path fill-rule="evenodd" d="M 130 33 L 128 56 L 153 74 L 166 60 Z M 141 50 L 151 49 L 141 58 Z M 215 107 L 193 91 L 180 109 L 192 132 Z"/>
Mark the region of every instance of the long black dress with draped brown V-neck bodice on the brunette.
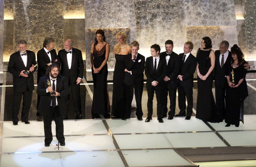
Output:
<path fill-rule="evenodd" d="M 102 62 L 105 60 L 106 56 L 106 44 L 102 47 L 100 51 L 96 50 L 96 44 L 94 44 L 94 66 L 99 68 Z M 94 74 L 92 69 L 92 79 L 94 83 L 94 94 L 92 99 L 92 119 L 100 118 L 99 114 L 104 115 L 105 118 L 109 118 L 109 98 L 108 98 L 108 88 L 107 88 L 107 75 L 108 69 L 107 64 L 100 70 L 99 73 Z"/>

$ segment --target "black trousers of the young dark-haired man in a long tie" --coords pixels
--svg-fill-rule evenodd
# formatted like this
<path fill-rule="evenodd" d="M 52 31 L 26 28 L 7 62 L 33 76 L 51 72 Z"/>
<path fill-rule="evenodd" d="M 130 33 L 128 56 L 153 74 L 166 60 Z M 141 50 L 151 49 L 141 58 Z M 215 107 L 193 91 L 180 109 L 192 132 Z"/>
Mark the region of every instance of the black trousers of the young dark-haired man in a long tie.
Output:
<path fill-rule="evenodd" d="M 148 92 L 148 117 L 152 117 L 153 115 L 153 98 L 154 98 L 154 92 L 156 93 L 156 110 L 157 110 L 157 117 L 161 118 L 162 115 L 162 90 L 161 88 L 155 88 L 154 86 L 151 86 L 150 88 L 147 88 Z"/>

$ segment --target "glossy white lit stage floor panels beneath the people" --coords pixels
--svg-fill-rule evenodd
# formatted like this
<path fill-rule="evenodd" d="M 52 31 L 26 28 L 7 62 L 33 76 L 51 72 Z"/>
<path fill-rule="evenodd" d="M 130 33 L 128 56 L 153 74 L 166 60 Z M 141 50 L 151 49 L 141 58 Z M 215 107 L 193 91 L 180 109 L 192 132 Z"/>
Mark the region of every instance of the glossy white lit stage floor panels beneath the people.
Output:
<path fill-rule="evenodd" d="M 244 115 L 245 124 L 238 128 L 225 127 L 224 122 L 204 123 L 195 117 L 144 121 L 64 120 L 66 145 L 62 150 L 55 150 L 55 136 L 49 147 L 44 146 L 43 122 L 19 122 L 17 126 L 2 122 L 0 166 L 209 166 L 192 162 L 179 150 L 256 146 L 256 115 Z M 55 135 L 54 122 L 52 131 Z M 255 159 L 243 162 L 256 166 Z M 211 165 L 221 166 L 217 163 Z"/>

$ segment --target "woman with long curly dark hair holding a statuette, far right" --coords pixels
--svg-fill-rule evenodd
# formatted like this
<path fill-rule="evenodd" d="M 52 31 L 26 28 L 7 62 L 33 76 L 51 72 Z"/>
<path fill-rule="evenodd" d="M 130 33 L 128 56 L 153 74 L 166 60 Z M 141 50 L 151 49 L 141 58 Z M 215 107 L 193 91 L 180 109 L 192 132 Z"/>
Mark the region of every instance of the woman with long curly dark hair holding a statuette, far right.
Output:
<path fill-rule="evenodd" d="M 226 127 L 235 125 L 239 126 L 240 120 L 243 122 L 244 99 L 248 96 L 247 84 L 245 75 L 247 69 L 244 68 L 244 64 L 247 62 L 244 60 L 244 54 L 238 45 L 231 47 L 231 62 L 226 68 L 226 79 L 228 86 L 226 87 L 226 113 L 225 122 Z"/>

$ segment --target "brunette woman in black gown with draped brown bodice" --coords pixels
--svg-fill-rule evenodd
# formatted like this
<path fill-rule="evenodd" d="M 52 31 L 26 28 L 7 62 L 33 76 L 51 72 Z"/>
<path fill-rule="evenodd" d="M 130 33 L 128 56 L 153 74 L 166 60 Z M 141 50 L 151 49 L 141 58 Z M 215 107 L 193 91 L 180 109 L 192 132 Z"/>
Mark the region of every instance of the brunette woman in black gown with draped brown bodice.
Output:
<path fill-rule="evenodd" d="M 91 45 L 92 79 L 94 82 L 94 94 L 92 99 L 92 119 L 110 118 L 110 105 L 107 88 L 107 61 L 110 53 L 110 46 L 106 42 L 105 33 L 98 29 L 95 33 L 95 42 Z"/>

